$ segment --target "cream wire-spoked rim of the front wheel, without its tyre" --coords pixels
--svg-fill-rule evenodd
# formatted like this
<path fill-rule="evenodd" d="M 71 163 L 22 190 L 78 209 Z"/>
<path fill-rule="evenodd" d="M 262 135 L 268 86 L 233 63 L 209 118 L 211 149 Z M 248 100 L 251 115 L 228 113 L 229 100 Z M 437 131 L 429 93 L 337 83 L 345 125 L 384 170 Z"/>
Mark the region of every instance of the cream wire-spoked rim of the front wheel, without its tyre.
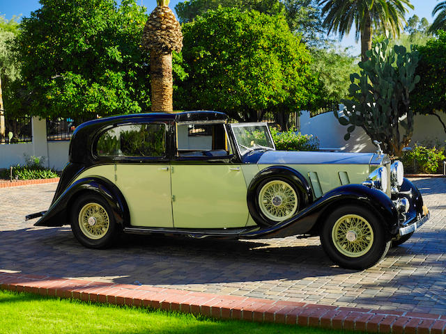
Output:
<path fill-rule="evenodd" d="M 361 216 L 346 214 L 334 223 L 332 241 L 342 255 L 360 257 L 374 244 L 374 230 Z"/>

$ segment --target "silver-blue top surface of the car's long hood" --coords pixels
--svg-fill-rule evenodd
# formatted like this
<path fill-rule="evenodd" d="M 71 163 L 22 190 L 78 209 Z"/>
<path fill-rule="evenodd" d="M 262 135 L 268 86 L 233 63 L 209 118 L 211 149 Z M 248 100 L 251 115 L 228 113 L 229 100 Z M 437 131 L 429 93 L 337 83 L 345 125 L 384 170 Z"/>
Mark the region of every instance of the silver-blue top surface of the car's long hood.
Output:
<path fill-rule="evenodd" d="M 308 151 L 266 151 L 257 164 L 381 164 L 385 154 L 308 152 Z"/>

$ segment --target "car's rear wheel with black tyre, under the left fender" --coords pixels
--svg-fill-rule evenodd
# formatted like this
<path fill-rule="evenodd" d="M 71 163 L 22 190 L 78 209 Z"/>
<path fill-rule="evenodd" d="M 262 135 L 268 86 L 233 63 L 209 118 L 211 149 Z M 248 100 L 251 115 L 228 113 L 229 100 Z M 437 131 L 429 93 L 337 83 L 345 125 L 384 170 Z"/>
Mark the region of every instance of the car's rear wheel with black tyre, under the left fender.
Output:
<path fill-rule="evenodd" d="M 71 230 L 89 248 L 106 248 L 116 237 L 116 222 L 108 203 L 96 194 L 78 198 L 71 208 Z"/>

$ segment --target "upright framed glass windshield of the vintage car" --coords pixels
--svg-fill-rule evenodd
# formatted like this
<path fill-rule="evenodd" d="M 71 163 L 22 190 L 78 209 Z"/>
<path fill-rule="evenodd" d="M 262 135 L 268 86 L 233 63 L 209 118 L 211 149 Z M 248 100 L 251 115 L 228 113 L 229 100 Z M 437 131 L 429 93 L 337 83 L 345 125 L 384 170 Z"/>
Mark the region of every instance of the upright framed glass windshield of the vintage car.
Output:
<path fill-rule="evenodd" d="M 275 150 L 270 130 L 266 123 L 231 124 L 240 154 L 254 150 Z"/>

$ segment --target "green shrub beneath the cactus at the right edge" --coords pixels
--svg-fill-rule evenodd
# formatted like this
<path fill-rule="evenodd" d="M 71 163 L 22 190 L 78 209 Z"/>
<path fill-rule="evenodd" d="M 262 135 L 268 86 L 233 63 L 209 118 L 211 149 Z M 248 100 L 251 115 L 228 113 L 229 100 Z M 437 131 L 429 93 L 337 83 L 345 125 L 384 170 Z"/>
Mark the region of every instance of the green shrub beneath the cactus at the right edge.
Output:
<path fill-rule="evenodd" d="M 404 152 L 402 157 L 406 172 L 428 174 L 442 173 L 445 159 L 445 148 L 429 148 L 417 144 L 412 150 Z"/>

